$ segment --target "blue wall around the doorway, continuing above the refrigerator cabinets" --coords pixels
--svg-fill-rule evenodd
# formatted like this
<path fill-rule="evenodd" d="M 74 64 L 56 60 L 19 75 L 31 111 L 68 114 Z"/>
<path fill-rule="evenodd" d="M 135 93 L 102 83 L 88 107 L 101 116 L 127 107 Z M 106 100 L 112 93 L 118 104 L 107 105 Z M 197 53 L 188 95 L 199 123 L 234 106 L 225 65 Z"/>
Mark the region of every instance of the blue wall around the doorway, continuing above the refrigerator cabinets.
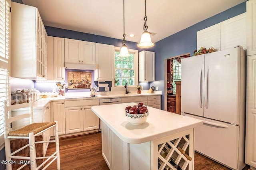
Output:
<path fill-rule="evenodd" d="M 199 22 L 189 28 L 186 28 L 172 36 L 164 38 L 155 43 L 156 52 L 156 81 L 150 83 L 150 86 L 158 86 L 162 91 L 162 101 L 164 101 L 164 59 L 190 53 L 196 50 L 196 32 L 242 14 L 246 12 L 246 2 L 238 4 L 220 14 L 212 16 L 202 22 Z M 171 28 L 170 28 L 171 29 Z M 193 90 L 193 87 L 192 87 Z M 162 102 L 162 109 L 164 109 L 164 102 Z"/>

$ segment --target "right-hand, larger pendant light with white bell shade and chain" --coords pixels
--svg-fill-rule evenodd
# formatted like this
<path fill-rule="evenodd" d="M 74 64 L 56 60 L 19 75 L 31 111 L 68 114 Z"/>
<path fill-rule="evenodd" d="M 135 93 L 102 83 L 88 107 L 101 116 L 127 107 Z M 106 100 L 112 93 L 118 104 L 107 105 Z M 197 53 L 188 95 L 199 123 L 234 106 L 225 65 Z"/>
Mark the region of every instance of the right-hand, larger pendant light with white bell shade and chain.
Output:
<path fill-rule="evenodd" d="M 147 32 L 148 30 L 148 26 L 147 26 L 147 16 L 146 16 L 146 0 L 145 0 L 145 16 L 144 16 L 144 26 L 143 26 L 143 30 L 144 32 L 141 35 L 140 38 L 140 43 L 137 44 L 138 47 L 141 48 L 149 48 L 149 47 L 153 47 L 155 44 L 152 43 L 151 41 L 151 37 L 149 32 Z"/>

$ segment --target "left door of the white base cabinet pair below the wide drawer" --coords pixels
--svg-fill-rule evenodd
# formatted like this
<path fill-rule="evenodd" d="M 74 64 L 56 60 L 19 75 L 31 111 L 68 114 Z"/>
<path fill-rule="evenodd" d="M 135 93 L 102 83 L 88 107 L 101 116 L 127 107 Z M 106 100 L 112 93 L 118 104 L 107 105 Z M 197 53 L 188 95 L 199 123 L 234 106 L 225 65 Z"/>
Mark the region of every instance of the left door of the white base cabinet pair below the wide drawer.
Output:
<path fill-rule="evenodd" d="M 83 107 L 65 108 L 66 134 L 83 131 Z"/>

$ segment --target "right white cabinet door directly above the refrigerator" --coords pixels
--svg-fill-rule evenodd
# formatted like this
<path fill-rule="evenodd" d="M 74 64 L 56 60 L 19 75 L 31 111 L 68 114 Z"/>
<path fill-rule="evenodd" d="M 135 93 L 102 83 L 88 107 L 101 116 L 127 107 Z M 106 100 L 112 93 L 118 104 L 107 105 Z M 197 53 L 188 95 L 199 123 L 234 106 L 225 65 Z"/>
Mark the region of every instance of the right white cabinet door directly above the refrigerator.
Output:
<path fill-rule="evenodd" d="M 246 13 L 220 22 L 220 49 L 236 45 L 246 49 Z"/>

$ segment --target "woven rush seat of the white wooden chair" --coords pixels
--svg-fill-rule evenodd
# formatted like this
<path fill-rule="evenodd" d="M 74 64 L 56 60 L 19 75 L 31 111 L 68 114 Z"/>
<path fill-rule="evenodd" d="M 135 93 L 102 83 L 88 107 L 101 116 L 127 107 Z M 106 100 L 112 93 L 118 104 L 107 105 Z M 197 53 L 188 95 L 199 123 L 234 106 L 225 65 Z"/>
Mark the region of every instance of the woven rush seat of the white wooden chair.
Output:
<path fill-rule="evenodd" d="M 42 130 L 55 125 L 56 122 L 45 122 L 45 123 L 32 123 L 22 128 L 12 130 L 8 133 L 8 136 L 28 136 L 29 133 L 34 134 L 41 132 Z"/>

